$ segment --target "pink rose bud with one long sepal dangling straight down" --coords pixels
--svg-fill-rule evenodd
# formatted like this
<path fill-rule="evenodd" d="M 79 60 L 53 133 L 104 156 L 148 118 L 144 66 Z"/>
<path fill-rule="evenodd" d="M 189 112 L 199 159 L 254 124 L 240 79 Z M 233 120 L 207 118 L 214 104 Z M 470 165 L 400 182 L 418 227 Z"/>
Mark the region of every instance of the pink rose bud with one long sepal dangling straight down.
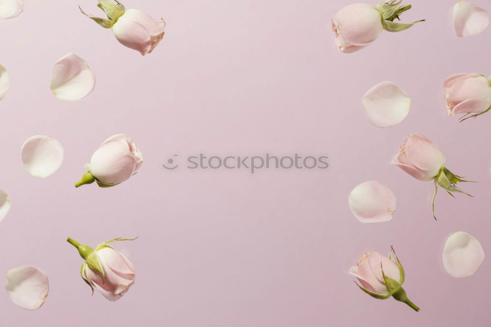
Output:
<path fill-rule="evenodd" d="M 469 181 L 461 179 L 462 176 L 455 175 L 445 168 L 445 156 L 443 153 L 435 143 L 419 133 L 406 137 L 406 141 L 401 145 L 399 153 L 392 158 L 391 164 L 397 165 L 420 181 L 435 181 L 435 193 L 432 202 L 433 217 L 435 217 L 437 185 L 448 191 L 450 195 L 452 195 L 451 192 L 467 194 L 457 187 L 457 183 Z"/>

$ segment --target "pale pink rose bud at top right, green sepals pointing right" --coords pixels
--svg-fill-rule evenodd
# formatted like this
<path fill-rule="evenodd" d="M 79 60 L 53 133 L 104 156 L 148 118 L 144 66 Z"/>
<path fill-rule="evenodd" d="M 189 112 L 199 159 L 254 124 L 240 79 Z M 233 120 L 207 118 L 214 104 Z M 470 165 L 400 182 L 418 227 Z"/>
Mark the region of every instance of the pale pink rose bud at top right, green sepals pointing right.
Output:
<path fill-rule="evenodd" d="M 335 42 L 339 51 L 356 52 L 375 41 L 383 29 L 400 32 L 421 22 L 394 23 L 394 19 L 399 19 L 399 15 L 411 8 L 411 5 L 400 6 L 400 4 L 401 1 L 394 0 L 381 2 L 376 7 L 355 3 L 341 8 L 331 19 L 331 28 L 336 35 Z"/>

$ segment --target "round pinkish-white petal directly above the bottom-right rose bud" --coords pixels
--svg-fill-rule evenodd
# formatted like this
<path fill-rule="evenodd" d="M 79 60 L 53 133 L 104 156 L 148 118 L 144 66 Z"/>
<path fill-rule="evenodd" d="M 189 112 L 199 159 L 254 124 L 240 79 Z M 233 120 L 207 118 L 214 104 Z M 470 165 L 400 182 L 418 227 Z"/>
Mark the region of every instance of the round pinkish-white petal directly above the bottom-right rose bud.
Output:
<path fill-rule="evenodd" d="M 382 182 L 369 181 L 351 191 L 349 205 L 361 222 L 389 221 L 396 210 L 396 197 Z"/>

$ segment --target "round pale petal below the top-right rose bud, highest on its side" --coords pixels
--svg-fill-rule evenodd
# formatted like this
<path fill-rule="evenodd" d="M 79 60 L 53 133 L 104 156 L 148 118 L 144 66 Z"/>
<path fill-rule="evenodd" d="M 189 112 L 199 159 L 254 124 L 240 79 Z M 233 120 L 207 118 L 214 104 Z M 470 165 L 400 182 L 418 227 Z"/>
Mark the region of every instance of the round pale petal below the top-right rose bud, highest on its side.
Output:
<path fill-rule="evenodd" d="M 384 81 L 369 89 L 361 101 L 368 121 L 375 127 L 399 124 L 409 113 L 409 95 L 393 82 Z"/>

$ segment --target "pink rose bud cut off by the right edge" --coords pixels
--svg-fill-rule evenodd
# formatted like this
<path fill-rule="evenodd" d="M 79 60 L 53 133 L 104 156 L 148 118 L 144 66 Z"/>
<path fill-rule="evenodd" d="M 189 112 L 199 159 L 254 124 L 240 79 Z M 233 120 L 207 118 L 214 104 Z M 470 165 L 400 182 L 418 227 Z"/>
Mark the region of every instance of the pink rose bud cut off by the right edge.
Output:
<path fill-rule="evenodd" d="M 482 74 L 454 74 L 445 80 L 443 89 L 448 115 L 463 113 L 461 121 L 491 108 L 490 80 Z M 476 114 L 468 116 L 471 113 Z"/>

